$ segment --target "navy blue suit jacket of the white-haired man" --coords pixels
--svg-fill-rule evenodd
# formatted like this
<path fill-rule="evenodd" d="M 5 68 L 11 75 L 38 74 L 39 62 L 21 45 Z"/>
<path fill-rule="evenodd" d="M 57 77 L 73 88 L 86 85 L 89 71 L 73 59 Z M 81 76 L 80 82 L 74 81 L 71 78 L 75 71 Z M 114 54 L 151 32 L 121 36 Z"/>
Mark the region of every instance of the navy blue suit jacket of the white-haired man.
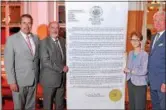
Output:
<path fill-rule="evenodd" d="M 166 83 L 166 31 L 160 36 L 151 51 L 148 63 L 148 78 L 152 90 L 160 90 L 161 84 Z"/>

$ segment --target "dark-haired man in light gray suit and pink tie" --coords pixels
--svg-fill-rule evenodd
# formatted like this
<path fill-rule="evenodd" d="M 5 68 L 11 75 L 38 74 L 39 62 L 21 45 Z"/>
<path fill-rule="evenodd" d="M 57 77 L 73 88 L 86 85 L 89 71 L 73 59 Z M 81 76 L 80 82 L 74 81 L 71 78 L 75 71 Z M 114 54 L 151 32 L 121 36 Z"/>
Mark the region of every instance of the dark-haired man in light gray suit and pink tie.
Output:
<path fill-rule="evenodd" d="M 39 75 L 38 37 L 30 31 L 31 15 L 21 16 L 21 30 L 9 36 L 5 46 L 5 69 L 15 110 L 34 110 Z"/>

